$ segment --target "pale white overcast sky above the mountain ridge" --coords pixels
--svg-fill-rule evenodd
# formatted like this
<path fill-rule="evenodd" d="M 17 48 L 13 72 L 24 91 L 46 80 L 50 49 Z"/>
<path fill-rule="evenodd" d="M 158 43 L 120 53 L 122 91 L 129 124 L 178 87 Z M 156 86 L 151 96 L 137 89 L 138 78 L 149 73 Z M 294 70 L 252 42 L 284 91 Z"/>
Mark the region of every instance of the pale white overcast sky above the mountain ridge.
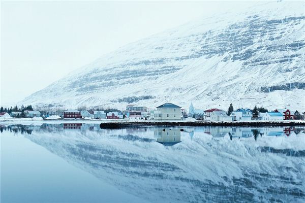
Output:
<path fill-rule="evenodd" d="M 1 105 L 105 53 L 198 17 L 257 2 L 1 2 Z"/>

